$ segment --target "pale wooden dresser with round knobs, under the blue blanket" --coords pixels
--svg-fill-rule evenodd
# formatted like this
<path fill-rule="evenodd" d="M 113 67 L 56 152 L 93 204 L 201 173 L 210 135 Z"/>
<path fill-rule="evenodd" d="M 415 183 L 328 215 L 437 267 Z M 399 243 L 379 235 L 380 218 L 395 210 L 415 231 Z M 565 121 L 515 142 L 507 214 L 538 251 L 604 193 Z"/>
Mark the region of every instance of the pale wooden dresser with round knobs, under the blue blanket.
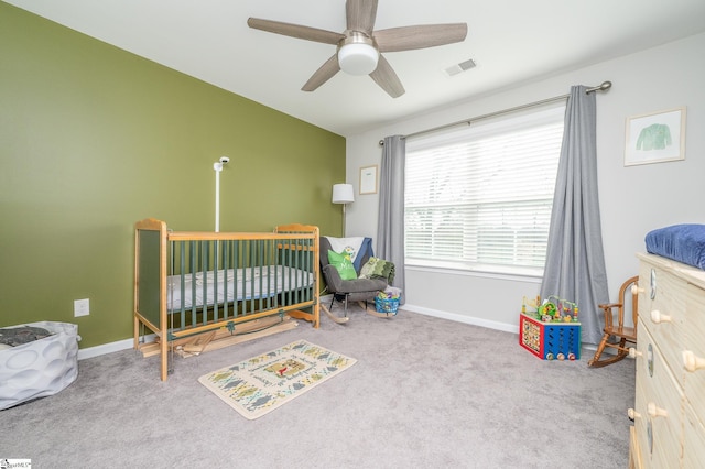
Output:
<path fill-rule="evenodd" d="M 705 468 L 705 271 L 637 254 L 630 467 Z"/>

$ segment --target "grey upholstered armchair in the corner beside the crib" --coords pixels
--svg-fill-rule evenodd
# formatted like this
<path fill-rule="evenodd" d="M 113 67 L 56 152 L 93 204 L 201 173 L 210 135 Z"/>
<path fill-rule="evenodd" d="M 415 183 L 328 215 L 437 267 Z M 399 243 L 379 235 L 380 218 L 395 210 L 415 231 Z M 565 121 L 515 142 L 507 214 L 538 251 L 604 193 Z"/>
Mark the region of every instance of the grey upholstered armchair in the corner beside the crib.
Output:
<path fill-rule="evenodd" d="M 365 238 L 365 242 L 362 243 L 360 252 L 354 263 L 355 271 L 358 276 L 362 265 L 365 265 L 370 257 L 375 255 L 372 252 L 371 241 L 372 240 L 370 238 Z M 321 272 L 327 285 L 326 291 L 333 294 L 333 299 L 330 301 L 329 306 L 326 306 L 323 303 L 321 304 L 324 313 L 326 313 L 336 323 L 347 323 L 348 302 L 358 302 L 368 314 L 387 317 L 387 315 L 379 314 L 373 308 L 370 309 L 367 302 L 373 301 L 375 296 L 377 296 L 380 291 L 387 288 L 390 284 L 389 279 L 376 277 L 343 280 L 340 279 L 340 274 L 335 265 L 332 265 L 328 262 L 329 249 L 332 248 L 328 239 L 326 237 L 321 237 Z M 343 317 L 336 316 L 330 312 L 336 302 L 343 303 L 344 305 Z"/>

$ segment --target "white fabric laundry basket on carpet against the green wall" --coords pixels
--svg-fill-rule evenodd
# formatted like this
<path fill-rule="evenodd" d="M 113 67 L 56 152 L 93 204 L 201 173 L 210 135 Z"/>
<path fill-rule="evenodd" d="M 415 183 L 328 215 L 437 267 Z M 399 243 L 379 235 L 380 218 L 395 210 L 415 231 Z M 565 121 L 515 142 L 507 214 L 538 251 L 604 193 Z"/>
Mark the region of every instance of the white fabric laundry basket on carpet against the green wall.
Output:
<path fill-rule="evenodd" d="M 78 377 L 78 326 L 40 321 L 51 336 L 0 350 L 0 410 L 56 394 Z"/>

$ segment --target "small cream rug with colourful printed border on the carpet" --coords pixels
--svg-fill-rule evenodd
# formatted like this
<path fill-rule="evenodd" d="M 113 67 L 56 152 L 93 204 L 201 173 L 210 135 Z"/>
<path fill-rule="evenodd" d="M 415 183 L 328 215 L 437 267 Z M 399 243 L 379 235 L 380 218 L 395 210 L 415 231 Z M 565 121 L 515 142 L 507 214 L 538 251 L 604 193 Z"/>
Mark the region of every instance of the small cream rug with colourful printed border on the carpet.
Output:
<path fill-rule="evenodd" d="M 261 417 L 347 370 L 356 359 L 299 340 L 198 378 L 249 419 Z"/>

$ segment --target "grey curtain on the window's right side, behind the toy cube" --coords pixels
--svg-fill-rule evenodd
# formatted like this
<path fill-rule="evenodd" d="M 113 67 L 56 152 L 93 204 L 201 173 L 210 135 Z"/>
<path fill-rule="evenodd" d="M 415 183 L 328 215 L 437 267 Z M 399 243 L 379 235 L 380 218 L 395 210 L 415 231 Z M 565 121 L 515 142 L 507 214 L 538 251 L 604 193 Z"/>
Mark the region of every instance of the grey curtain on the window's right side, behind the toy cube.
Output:
<path fill-rule="evenodd" d="M 541 297 L 577 303 L 583 342 L 601 338 L 597 305 L 608 303 L 607 274 L 597 196 L 595 94 L 573 86 L 549 230 Z"/>

